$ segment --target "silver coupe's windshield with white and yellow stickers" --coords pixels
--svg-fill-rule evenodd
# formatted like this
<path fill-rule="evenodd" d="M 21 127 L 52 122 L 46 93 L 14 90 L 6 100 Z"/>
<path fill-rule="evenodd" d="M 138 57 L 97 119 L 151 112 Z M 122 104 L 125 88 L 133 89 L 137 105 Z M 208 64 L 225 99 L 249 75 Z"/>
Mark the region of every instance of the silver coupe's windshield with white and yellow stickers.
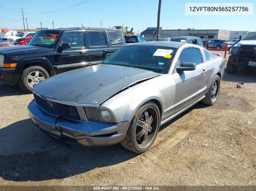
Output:
<path fill-rule="evenodd" d="M 162 46 L 124 46 L 106 58 L 102 64 L 128 66 L 167 74 L 176 50 Z"/>

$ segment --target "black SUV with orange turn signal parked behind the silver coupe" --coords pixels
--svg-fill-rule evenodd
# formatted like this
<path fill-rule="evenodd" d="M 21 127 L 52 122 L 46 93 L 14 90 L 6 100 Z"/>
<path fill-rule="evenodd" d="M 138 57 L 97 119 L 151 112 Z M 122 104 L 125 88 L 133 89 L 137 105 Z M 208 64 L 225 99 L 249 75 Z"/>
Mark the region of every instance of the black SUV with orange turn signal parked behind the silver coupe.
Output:
<path fill-rule="evenodd" d="M 40 30 L 27 46 L 0 48 L 0 81 L 33 86 L 53 75 L 99 64 L 125 46 L 119 29 L 58 28 Z"/>

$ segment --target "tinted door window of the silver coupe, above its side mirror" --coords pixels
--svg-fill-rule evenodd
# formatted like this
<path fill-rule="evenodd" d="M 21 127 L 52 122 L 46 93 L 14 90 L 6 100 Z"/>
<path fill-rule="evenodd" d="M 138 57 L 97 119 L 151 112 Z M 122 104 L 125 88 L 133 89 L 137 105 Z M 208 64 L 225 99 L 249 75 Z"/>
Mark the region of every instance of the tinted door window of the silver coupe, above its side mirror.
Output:
<path fill-rule="evenodd" d="M 195 64 L 200 64 L 202 63 L 201 52 L 197 48 L 186 48 L 182 50 L 179 61 L 180 64 L 182 62 L 192 62 Z"/>

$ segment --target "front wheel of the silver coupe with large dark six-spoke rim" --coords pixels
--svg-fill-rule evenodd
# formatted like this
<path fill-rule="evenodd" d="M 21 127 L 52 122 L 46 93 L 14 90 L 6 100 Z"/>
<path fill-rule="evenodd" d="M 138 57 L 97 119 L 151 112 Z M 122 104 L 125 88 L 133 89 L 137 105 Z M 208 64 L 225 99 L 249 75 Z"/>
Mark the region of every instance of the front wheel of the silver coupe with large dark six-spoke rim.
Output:
<path fill-rule="evenodd" d="M 133 152 L 143 153 L 154 143 L 160 126 L 160 111 L 148 101 L 135 113 L 121 145 Z"/>

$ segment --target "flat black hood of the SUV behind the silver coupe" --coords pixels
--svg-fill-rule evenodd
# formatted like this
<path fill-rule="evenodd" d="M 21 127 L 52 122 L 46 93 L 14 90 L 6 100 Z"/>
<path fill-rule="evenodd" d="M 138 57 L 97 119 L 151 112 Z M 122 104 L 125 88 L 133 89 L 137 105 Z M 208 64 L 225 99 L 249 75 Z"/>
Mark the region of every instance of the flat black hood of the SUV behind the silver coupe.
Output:
<path fill-rule="evenodd" d="M 44 48 L 39 46 L 7 46 L 0 49 L 0 54 L 4 56 L 15 56 L 20 54 L 45 53 L 52 51 L 53 48 Z"/>

